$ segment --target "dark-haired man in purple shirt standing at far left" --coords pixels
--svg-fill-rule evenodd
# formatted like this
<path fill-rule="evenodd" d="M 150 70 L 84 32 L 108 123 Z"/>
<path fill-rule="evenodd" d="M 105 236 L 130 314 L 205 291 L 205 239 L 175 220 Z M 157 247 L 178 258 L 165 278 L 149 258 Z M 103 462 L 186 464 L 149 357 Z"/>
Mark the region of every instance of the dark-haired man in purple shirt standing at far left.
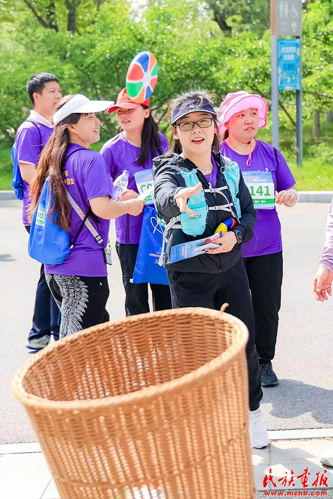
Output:
<path fill-rule="evenodd" d="M 28 221 L 29 184 L 32 182 L 40 153 L 50 138 L 53 125 L 50 116 L 62 97 L 58 79 L 50 73 L 37 73 L 31 76 L 26 85 L 33 109 L 29 117 L 18 127 L 15 137 L 18 165 L 23 180 L 22 221 L 30 232 Z M 44 267 L 41 266 L 37 284 L 32 328 L 29 332 L 26 348 L 40 350 L 44 348 L 51 334 L 59 338 L 60 313 L 45 281 Z"/>

